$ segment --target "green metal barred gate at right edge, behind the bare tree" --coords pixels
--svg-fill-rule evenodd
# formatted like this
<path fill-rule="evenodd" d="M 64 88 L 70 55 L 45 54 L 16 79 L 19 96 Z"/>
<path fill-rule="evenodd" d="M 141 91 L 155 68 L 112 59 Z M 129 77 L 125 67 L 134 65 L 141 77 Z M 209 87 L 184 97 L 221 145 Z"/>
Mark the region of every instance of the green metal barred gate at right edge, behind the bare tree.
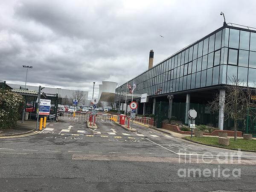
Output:
<path fill-rule="evenodd" d="M 256 108 L 247 109 L 246 134 L 256 137 Z"/>

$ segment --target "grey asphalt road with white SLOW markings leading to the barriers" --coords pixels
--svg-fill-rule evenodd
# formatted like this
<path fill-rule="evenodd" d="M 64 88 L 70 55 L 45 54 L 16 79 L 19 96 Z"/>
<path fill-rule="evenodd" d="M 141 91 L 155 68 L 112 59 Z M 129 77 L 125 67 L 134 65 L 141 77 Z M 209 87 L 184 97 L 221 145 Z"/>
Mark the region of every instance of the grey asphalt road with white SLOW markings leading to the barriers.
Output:
<path fill-rule="evenodd" d="M 136 124 L 136 133 L 111 122 L 97 126 L 65 120 L 0 139 L 0 191 L 256 191 L 256 154 Z"/>

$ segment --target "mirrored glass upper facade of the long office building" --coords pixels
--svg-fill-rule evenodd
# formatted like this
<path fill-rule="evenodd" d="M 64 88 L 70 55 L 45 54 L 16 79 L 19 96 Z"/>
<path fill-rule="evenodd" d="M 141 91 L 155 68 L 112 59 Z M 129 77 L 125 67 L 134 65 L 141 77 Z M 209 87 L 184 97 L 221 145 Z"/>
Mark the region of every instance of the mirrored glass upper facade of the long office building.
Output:
<path fill-rule="evenodd" d="M 162 97 L 164 102 L 169 94 L 175 97 L 186 94 L 183 101 L 186 102 L 187 93 L 192 93 L 193 97 L 198 97 L 194 98 L 194 104 L 202 104 L 202 99 L 205 100 L 203 104 L 206 104 L 213 92 L 220 90 L 225 84 L 231 84 L 232 76 L 236 76 L 244 86 L 253 87 L 255 75 L 256 31 L 226 25 L 166 58 L 128 83 L 132 85 L 134 81 L 137 84 L 135 99 L 140 100 L 141 94 L 148 94 L 147 105 L 151 106 L 148 112 L 154 113 L 152 110 L 155 110 L 157 101 L 154 99 L 152 102 L 153 98 L 160 101 Z M 205 98 L 200 99 L 201 91 L 206 93 Z M 120 92 L 124 95 L 121 97 L 123 103 L 126 83 L 122 85 L 122 90 L 120 87 L 116 89 L 116 94 Z M 192 96 L 189 97 L 192 99 Z M 130 96 L 127 98 L 131 100 Z M 178 100 L 177 102 L 181 102 Z"/>

